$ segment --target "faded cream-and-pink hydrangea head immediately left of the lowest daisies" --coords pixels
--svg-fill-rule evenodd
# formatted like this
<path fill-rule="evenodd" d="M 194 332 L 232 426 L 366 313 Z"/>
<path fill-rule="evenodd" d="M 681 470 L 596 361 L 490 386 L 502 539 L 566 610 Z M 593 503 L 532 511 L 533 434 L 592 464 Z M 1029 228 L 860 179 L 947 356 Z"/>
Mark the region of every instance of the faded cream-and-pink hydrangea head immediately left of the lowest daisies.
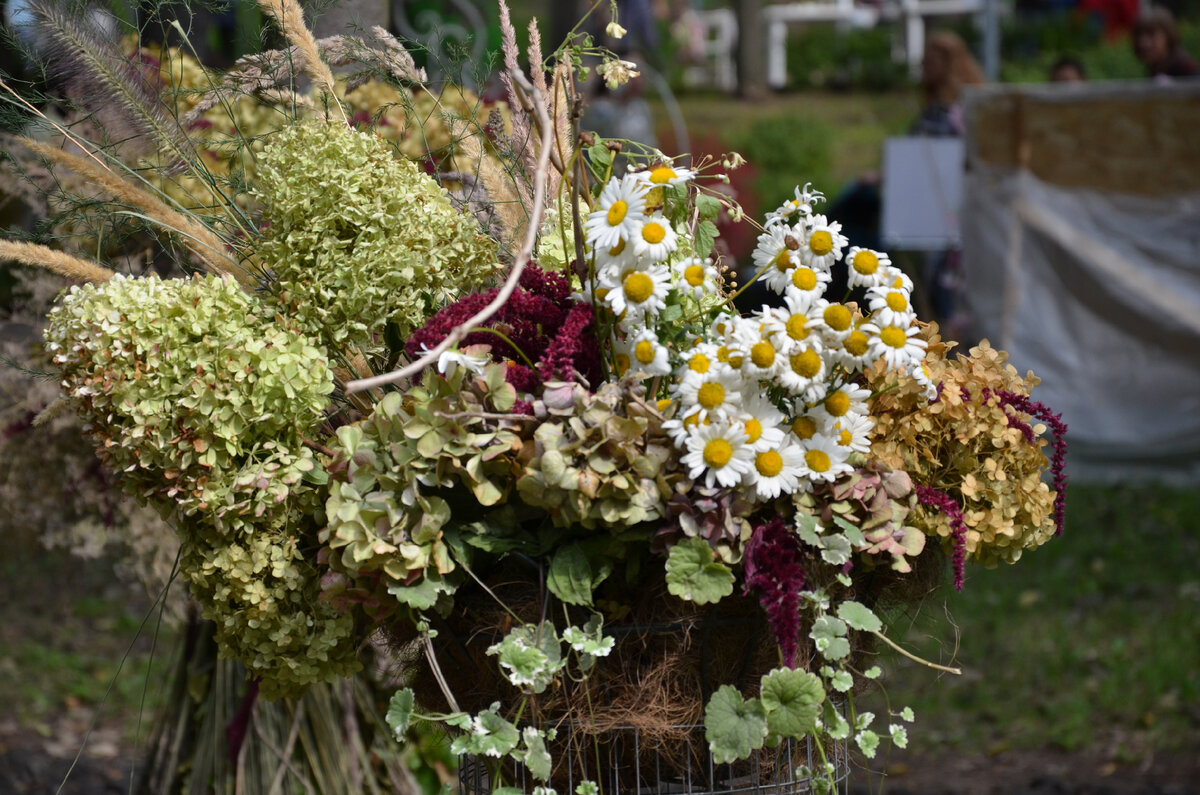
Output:
<path fill-rule="evenodd" d="M 559 527 L 622 528 L 666 516 L 680 478 L 676 448 L 641 385 L 547 384 L 538 454 L 517 480 L 521 498 Z"/>

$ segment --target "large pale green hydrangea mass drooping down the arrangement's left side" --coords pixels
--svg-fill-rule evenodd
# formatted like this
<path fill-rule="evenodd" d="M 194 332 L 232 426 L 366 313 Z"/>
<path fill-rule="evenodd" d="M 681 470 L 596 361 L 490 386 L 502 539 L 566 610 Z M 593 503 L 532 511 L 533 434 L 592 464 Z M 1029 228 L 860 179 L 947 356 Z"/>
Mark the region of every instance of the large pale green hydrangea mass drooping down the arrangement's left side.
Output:
<path fill-rule="evenodd" d="M 320 496 L 304 438 L 324 353 L 215 276 L 115 277 L 50 312 L 62 387 L 124 488 L 174 514 L 181 569 L 226 654 L 268 698 L 358 668 L 354 622 L 318 602 Z"/>

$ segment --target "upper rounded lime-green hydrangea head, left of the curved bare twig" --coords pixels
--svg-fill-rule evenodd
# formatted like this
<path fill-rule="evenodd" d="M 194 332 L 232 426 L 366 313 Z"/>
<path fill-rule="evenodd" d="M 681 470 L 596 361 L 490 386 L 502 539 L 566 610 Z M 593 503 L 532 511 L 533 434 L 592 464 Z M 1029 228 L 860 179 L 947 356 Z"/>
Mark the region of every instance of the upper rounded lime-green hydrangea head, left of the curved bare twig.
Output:
<path fill-rule="evenodd" d="M 278 281 L 276 298 L 334 347 L 377 351 L 389 322 L 407 336 L 497 268 L 474 217 L 371 133 L 284 127 L 258 178 L 266 226 L 257 251 Z"/>

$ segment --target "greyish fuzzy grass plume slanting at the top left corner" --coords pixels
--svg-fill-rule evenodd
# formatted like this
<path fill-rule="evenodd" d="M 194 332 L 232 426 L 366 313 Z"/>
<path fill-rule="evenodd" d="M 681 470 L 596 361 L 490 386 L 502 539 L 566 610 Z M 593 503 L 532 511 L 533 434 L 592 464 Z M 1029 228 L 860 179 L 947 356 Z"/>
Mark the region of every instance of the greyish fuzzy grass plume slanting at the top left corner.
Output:
<path fill-rule="evenodd" d="M 47 59 L 72 97 L 96 114 L 104 131 L 119 141 L 149 138 L 149 149 L 170 160 L 193 160 L 187 136 L 172 119 L 139 64 L 100 40 L 49 2 L 31 6 L 50 47 Z"/>

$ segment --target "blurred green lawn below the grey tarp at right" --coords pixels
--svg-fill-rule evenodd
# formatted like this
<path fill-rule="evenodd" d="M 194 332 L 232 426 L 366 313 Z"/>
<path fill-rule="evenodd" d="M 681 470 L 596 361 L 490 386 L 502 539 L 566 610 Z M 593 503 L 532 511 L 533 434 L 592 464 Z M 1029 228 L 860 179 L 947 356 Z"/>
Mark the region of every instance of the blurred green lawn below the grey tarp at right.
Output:
<path fill-rule="evenodd" d="M 893 707 L 917 711 L 914 748 L 1104 745 L 1134 763 L 1200 747 L 1200 495 L 1068 495 L 1062 537 L 1015 567 L 968 569 L 961 593 L 934 594 L 916 621 L 893 618 L 910 648 L 964 669 L 887 658 Z"/>

